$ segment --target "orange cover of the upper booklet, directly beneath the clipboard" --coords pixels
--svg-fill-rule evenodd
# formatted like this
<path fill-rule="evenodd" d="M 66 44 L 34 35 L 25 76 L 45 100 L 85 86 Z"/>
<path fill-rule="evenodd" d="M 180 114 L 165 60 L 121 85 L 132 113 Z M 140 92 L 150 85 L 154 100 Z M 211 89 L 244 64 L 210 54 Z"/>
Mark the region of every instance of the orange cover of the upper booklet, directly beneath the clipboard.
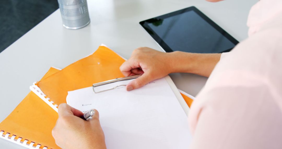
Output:
<path fill-rule="evenodd" d="M 100 46 L 93 54 L 70 64 L 39 82 L 37 86 L 54 105 L 66 103 L 68 91 L 94 83 L 124 77 L 119 67 L 125 60 L 111 49 Z"/>

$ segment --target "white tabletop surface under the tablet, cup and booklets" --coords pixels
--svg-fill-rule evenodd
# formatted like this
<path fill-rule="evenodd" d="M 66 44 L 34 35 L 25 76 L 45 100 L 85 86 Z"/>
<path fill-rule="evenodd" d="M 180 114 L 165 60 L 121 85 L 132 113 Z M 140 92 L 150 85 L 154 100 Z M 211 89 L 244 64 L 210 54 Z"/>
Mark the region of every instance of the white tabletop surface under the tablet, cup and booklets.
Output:
<path fill-rule="evenodd" d="M 60 11 L 31 29 L 0 53 L 0 121 L 28 94 L 51 66 L 64 68 L 94 52 L 101 43 L 129 58 L 138 47 L 161 48 L 139 22 L 196 6 L 238 41 L 247 38 L 246 20 L 258 0 L 88 0 L 91 23 L 79 30 L 62 26 Z M 170 74 L 176 86 L 197 95 L 206 79 L 193 74 Z M 31 115 L 27 115 L 31 116 Z M 1 148 L 23 148 L 0 139 Z"/>

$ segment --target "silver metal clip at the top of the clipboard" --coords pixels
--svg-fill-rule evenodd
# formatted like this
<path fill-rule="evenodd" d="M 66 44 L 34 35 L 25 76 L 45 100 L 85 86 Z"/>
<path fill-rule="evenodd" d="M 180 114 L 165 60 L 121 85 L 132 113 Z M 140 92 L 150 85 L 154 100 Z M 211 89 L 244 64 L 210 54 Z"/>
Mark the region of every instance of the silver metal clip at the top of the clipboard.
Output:
<path fill-rule="evenodd" d="M 126 86 L 126 84 L 118 85 L 118 86 L 115 86 L 113 88 L 105 89 L 105 90 L 102 90 L 102 91 L 95 91 L 94 87 L 102 86 L 102 85 L 106 85 L 106 84 L 110 84 L 110 83 L 114 83 L 114 82 L 118 82 L 118 81 L 135 79 L 135 78 L 138 78 L 139 76 L 141 76 L 141 74 L 137 74 L 137 75 L 134 75 L 134 76 L 127 76 L 127 77 L 124 77 L 124 78 L 116 78 L 116 79 L 113 79 L 113 80 L 108 80 L 108 81 L 104 81 L 104 82 L 100 82 L 100 83 L 95 83 L 95 84 L 92 85 L 92 89 L 93 89 L 94 93 L 101 93 L 101 92 L 104 92 L 104 91 L 109 91 L 109 90 L 115 89 L 116 87 L 119 87 L 119 86 Z"/>

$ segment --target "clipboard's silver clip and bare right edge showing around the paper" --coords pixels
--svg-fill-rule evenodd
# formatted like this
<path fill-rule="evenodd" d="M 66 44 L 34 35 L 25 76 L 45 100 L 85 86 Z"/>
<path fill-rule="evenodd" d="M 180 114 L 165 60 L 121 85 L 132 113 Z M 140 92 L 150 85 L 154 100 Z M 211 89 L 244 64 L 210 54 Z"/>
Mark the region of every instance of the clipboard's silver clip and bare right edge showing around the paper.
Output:
<path fill-rule="evenodd" d="M 100 82 L 100 83 L 95 83 L 95 84 L 92 85 L 92 89 L 93 89 L 94 93 L 101 93 L 101 92 L 109 91 L 109 90 L 112 90 L 112 89 L 116 89 L 120 86 L 126 86 L 127 84 L 114 85 L 113 87 L 110 87 L 108 89 L 103 89 L 103 90 L 100 90 L 100 91 L 97 90 L 97 89 L 95 90 L 95 88 L 98 87 L 98 86 L 103 86 L 103 85 L 106 85 L 106 84 L 111 84 L 111 83 L 115 83 L 115 82 L 119 82 L 119 81 L 135 79 L 135 78 L 138 78 L 139 76 L 141 76 L 141 74 L 134 75 L 134 76 L 127 76 L 127 77 L 124 77 L 124 78 L 116 78 L 116 79 L 113 79 L 113 80 L 108 80 L 108 81 L 104 81 L 104 82 Z M 175 86 L 175 84 L 171 80 L 171 78 L 169 76 L 165 76 L 164 78 L 168 82 L 170 88 L 172 89 L 173 93 L 175 94 L 177 100 L 179 101 L 179 104 L 181 105 L 182 109 L 184 110 L 185 114 L 188 117 L 188 113 L 190 111 L 189 106 L 186 104 L 184 98 L 180 94 L 179 90 L 177 89 L 177 87 Z"/>

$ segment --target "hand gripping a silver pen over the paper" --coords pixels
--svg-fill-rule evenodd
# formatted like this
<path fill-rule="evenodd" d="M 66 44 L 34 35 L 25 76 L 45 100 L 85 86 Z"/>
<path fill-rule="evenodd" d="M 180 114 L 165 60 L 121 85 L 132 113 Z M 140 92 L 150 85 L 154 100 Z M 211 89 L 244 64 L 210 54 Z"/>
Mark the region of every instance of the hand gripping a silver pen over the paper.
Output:
<path fill-rule="evenodd" d="M 60 104 L 59 118 L 52 130 L 56 144 L 61 148 L 105 149 L 105 136 L 100 126 L 99 113 L 95 110 L 93 118 L 83 120 L 83 113 L 67 104 Z"/>

